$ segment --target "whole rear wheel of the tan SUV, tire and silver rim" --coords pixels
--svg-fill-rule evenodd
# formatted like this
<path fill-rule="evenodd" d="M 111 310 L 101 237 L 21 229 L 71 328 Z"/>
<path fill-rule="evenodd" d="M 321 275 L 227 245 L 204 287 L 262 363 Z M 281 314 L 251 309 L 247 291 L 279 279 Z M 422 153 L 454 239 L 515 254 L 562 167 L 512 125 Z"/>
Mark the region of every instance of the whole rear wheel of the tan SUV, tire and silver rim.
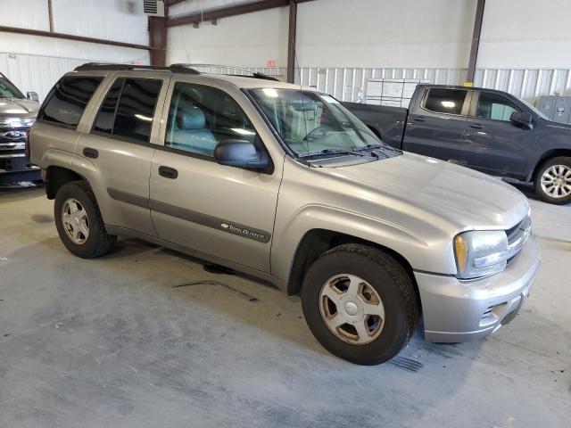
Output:
<path fill-rule="evenodd" d="M 73 210 L 75 212 L 72 213 Z M 107 254 L 117 240 L 117 236 L 108 235 L 105 231 L 95 194 L 85 181 L 62 185 L 55 195 L 54 218 L 62 243 L 82 259 Z M 82 229 L 82 225 L 87 227 Z"/>

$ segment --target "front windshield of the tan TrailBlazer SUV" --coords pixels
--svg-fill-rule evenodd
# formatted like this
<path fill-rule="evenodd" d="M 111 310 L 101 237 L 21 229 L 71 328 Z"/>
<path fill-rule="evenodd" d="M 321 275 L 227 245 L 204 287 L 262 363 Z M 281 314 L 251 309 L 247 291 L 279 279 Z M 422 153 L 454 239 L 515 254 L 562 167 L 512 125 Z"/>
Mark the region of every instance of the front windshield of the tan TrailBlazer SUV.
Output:
<path fill-rule="evenodd" d="M 298 156 L 379 146 L 378 137 L 335 98 L 300 89 L 252 89 L 249 93 Z"/>

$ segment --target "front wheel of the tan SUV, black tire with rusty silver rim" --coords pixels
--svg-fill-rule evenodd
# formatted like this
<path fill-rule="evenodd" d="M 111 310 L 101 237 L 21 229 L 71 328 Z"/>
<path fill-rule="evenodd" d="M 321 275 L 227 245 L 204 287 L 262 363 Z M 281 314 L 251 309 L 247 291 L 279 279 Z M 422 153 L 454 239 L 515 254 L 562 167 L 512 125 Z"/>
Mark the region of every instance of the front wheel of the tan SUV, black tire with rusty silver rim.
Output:
<path fill-rule="evenodd" d="M 347 279 L 343 279 L 345 276 Z M 361 290 L 357 299 L 350 292 L 355 282 L 359 283 Z M 334 300 L 339 299 L 337 292 L 346 286 L 340 300 L 332 304 L 329 295 L 334 294 Z M 373 291 L 377 292 L 377 298 Z M 378 300 L 384 310 L 375 304 Z M 373 306 L 370 306 L 371 302 Z M 362 326 L 361 330 L 357 328 L 361 324 L 357 320 L 363 315 L 360 308 L 356 315 L 352 315 L 355 306 L 362 305 L 373 308 L 363 309 L 363 314 L 384 314 L 384 317 L 364 315 L 364 334 L 359 333 Z M 340 245 L 315 260 L 303 279 L 302 308 L 311 333 L 324 348 L 339 358 L 362 366 L 384 363 L 393 358 L 418 328 L 418 295 L 410 276 L 392 256 L 366 245 Z M 351 322 L 336 327 L 334 333 L 331 325 L 337 325 L 346 318 L 351 318 Z"/>

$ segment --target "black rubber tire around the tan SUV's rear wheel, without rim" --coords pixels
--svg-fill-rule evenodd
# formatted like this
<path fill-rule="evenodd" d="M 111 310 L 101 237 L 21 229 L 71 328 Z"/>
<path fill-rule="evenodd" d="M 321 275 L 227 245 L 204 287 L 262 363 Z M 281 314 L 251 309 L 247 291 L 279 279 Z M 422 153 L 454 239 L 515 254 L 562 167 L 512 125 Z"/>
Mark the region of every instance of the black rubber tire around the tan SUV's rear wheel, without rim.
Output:
<path fill-rule="evenodd" d="M 87 195 L 87 189 L 85 189 L 84 186 L 86 185 L 81 182 L 73 182 L 63 185 L 58 190 L 54 201 L 54 218 L 58 234 L 65 247 L 72 254 L 80 258 L 91 259 L 97 255 L 101 244 L 101 236 L 102 234 L 106 234 L 106 232 L 103 227 L 103 222 L 100 220 L 99 211 L 95 203 Z M 63 228 L 62 205 L 70 198 L 78 200 L 87 212 L 89 235 L 87 236 L 87 241 L 81 245 L 73 243 Z"/>

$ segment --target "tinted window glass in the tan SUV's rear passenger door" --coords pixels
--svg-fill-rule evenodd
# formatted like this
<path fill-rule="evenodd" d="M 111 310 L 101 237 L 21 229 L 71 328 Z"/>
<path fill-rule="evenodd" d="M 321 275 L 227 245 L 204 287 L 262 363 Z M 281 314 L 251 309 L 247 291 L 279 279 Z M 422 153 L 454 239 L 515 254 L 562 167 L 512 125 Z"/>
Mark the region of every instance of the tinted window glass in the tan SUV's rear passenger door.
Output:
<path fill-rule="evenodd" d="M 162 80 L 119 78 L 103 100 L 94 130 L 148 143 Z"/>

